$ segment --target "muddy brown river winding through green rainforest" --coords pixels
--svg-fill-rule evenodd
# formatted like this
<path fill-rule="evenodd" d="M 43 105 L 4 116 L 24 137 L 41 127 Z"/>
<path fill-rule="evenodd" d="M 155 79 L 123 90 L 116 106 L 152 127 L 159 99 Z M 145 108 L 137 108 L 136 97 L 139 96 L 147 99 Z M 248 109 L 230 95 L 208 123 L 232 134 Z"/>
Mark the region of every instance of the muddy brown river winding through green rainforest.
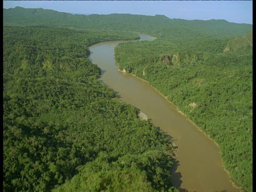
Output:
<path fill-rule="evenodd" d="M 140 37 L 140 41 L 153 40 L 147 35 L 140 34 Z M 223 169 L 220 149 L 214 142 L 146 81 L 118 70 L 114 46 L 122 42 L 125 41 L 91 46 L 89 59 L 101 68 L 100 81 L 117 92 L 123 101 L 149 116 L 155 126 L 173 138 L 178 146 L 172 178 L 174 186 L 180 191 L 192 192 L 239 191 Z"/>

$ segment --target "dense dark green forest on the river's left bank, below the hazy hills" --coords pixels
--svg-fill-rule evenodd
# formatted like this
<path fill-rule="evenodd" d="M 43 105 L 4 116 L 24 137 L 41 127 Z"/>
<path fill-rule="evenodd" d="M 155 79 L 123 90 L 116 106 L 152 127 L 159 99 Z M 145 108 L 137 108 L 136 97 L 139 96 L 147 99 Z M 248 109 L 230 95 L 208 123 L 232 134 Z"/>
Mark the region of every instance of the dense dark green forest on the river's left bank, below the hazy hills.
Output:
<path fill-rule="evenodd" d="M 171 141 L 102 85 L 86 56 L 90 44 L 137 35 L 3 32 L 4 191 L 175 191 Z"/>

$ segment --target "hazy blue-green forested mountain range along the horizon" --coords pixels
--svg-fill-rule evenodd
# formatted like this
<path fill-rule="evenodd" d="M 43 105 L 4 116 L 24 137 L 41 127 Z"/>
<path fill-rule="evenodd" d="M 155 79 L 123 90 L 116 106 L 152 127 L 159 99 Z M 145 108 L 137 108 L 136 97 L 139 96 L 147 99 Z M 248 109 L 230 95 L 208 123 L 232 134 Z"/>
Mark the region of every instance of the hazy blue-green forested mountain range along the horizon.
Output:
<path fill-rule="evenodd" d="M 49 26 L 137 31 L 154 35 L 164 35 L 164 31 L 187 28 L 194 32 L 196 30 L 202 35 L 220 38 L 243 36 L 252 31 L 252 25 L 250 24 L 231 23 L 226 20 L 183 20 L 169 19 L 165 15 L 146 16 L 115 13 L 85 15 L 44 10 L 42 8 L 25 9 L 18 6 L 3 9 L 3 24 L 6 26 Z M 177 33 L 177 30 L 173 31 L 173 33 Z"/>

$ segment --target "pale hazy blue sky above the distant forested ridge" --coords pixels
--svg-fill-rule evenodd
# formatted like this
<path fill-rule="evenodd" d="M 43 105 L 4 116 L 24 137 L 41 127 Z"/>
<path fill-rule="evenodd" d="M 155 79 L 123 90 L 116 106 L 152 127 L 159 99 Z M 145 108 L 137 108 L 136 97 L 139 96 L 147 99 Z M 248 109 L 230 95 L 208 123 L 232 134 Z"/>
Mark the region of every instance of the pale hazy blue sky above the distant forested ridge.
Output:
<path fill-rule="evenodd" d="M 21 6 L 78 14 L 163 14 L 171 19 L 252 24 L 252 1 L 3 1 L 4 8 Z"/>

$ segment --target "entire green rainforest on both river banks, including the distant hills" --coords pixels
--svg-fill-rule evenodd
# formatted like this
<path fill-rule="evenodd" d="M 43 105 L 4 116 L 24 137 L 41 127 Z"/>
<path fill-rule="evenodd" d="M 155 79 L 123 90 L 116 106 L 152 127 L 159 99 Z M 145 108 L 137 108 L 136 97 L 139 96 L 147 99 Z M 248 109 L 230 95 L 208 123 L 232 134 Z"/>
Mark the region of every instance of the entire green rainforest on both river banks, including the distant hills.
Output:
<path fill-rule="evenodd" d="M 156 39 L 115 46 L 118 68 L 176 105 L 252 191 L 252 25 L 22 7 L 3 9 L 4 191 L 179 191 L 170 138 L 88 58 L 138 33 Z"/>

